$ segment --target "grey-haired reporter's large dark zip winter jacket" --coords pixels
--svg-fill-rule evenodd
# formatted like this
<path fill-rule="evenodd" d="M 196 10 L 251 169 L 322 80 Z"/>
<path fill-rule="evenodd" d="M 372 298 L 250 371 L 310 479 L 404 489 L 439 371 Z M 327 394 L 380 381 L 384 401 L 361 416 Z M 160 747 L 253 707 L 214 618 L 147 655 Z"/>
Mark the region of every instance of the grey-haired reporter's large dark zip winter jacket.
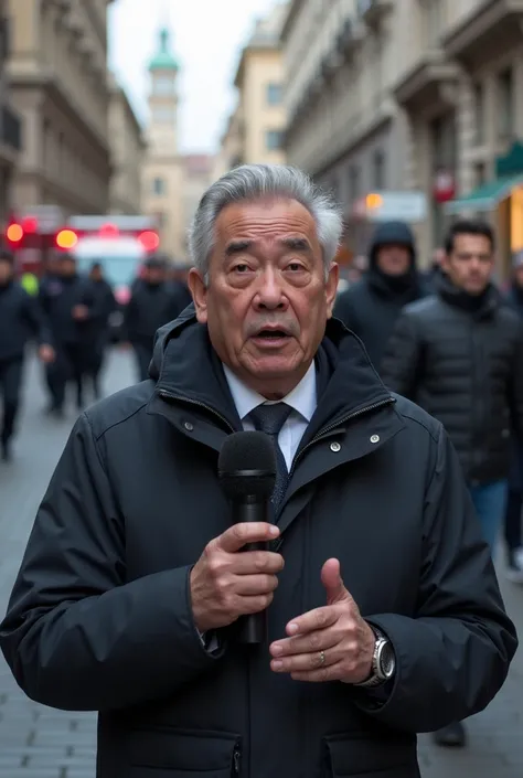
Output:
<path fill-rule="evenodd" d="M 324 605 L 337 556 L 394 644 L 393 686 L 295 682 L 231 629 L 205 650 L 190 571 L 230 526 L 217 457 L 241 423 L 190 308 L 157 339 L 152 380 L 74 427 L 0 625 L 30 697 L 100 712 L 98 778 L 418 778 L 415 733 L 503 683 L 514 628 L 441 426 L 392 397 L 337 321 L 317 366 L 325 387 L 277 516 L 269 640 Z"/>

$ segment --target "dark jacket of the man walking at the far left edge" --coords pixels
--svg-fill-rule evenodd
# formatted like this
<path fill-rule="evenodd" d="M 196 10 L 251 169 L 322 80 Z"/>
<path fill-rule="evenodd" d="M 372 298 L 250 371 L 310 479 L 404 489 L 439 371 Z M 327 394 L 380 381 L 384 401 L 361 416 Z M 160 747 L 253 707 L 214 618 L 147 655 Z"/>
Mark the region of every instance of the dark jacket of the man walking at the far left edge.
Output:
<path fill-rule="evenodd" d="M 0 362 L 22 359 L 25 343 L 51 343 L 38 300 L 15 281 L 0 285 Z"/>

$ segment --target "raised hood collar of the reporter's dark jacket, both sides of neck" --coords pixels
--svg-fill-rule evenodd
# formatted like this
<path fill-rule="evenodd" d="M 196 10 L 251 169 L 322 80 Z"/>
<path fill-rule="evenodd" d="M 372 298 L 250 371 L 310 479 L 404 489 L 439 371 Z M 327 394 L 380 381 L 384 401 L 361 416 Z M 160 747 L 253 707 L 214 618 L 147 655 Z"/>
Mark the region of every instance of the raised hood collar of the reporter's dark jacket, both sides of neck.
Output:
<path fill-rule="evenodd" d="M 328 377 L 319 386 L 314 428 L 327 418 L 335 420 L 375 403 L 394 402 L 363 343 L 338 319 L 328 321 L 316 363 L 318 375 Z M 222 363 L 207 328 L 196 320 L 193 303 L 158 331 L 149 373 L 157 382 L 157 395 L 200 406 L 202 413 L 214 412 L 230 427 L 241 428 Z"/>

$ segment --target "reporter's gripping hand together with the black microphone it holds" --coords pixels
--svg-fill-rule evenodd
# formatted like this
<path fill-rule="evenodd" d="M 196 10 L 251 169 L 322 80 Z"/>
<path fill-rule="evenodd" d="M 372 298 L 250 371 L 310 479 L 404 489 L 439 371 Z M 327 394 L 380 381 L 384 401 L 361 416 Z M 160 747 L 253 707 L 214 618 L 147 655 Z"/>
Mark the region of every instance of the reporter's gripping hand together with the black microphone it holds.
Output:
<path fill-rule="evenodd" d="M 271 440 L 264 433 L 236 433 L 218 461 L 222 487 L 232 503 L 232 523 L 212 540 L 191 573 L 194 622 L 201 632 L 227 627 L 239 617 L 239 640 L 265 639 L 265 614 L 284 568 L 280 554 L 267 551 L 279 530 L 268 522 L 276 479 Z"/>

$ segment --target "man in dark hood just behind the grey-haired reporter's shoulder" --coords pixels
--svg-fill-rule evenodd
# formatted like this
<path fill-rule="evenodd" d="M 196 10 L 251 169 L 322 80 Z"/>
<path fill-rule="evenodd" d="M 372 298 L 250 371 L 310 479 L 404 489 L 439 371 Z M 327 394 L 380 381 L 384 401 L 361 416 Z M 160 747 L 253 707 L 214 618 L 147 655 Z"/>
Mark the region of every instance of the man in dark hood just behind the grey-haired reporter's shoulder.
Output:
<path fill-rule="evenodd" d="M 381 224 L 371 243 L 369 270 L 343 291 L 334 316 L 363 341 L 380 370 L 387 340 L 402 308 L 428 294 L 416 268 L 414 235 L 404 222 Z"/>

